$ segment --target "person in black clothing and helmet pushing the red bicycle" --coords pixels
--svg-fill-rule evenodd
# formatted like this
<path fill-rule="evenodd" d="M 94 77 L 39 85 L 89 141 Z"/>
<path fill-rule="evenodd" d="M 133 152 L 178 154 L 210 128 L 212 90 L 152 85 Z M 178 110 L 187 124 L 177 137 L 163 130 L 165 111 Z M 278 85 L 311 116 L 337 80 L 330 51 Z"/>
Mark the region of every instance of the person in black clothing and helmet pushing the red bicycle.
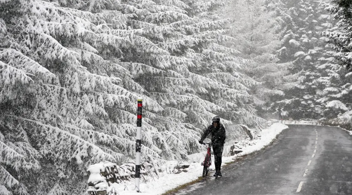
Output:
<path fill-rule="evenodd" d="M 205 137 L 211 134 L 211 141 L 213 143 L 214 161 L 215 161 L 215 174 L 214 176 L 221 175 L 221 158 L 223 145 L 226 139 L 226 132 L 224 126 L 220 123 L 220 117 L 215 116 L 213 123 L 203 132 L 202 137 L 199 140 L 200 144 L 203 144 Z"/>

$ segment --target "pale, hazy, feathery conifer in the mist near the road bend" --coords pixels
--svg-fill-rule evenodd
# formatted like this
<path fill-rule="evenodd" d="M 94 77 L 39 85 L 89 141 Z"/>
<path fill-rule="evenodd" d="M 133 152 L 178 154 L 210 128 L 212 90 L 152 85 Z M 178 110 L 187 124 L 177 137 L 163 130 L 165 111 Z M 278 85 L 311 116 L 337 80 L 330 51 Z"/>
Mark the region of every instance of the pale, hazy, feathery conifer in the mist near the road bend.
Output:
<path fill-rule="evenodd" d="M 289 63 L 278 63 L 275 51 L 281 44 L 277 29 L 280 23 L 273 20 L 274 11 L 265 9 L 265 2 L 235 1 L 227 6 L 226 15 L 232 19 L 230 33 L 235 39 L 231 44 L 242 51 L 242 58 L 251 59 L 242 71 L 261 83 L 251 89 L 256 109 L 260 116 L 270 117 L 267 110 L 271 102 L 284 94 L 278 87 L 284 83 Z"/>

